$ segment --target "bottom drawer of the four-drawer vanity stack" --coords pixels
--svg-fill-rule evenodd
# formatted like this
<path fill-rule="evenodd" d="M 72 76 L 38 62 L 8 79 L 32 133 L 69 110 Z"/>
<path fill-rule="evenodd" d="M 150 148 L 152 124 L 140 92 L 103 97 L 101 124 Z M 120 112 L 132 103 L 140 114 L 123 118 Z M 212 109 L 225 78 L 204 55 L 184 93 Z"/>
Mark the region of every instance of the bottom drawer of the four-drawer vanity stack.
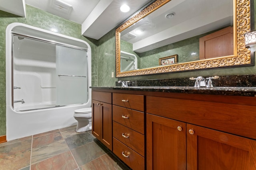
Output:
<path fill-rule="evenodd" d="M 144 170 L 144 157 L 115 138 L 113 138 L 113 152 L 133 170 Z"/>

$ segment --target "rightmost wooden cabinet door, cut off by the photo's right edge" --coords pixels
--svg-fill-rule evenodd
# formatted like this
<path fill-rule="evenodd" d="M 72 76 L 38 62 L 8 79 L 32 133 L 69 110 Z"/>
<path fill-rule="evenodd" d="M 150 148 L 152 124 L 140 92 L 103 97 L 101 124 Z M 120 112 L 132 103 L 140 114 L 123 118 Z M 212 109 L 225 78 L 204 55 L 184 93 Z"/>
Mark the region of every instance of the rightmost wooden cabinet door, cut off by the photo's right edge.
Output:
<path fill-rule="evenodd" d="M 187 124 L 188 170 L 256 170 L 256 141 Z"/>

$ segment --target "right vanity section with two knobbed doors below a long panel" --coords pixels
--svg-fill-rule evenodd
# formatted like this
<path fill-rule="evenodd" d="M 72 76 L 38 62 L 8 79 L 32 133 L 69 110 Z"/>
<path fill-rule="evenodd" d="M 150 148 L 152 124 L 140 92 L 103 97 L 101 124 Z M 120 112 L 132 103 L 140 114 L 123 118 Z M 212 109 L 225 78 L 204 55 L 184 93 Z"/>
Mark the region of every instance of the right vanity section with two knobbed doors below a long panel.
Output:
<path fill-rule="evenodd" d="M 147 96 L 147 169 L 255 170 L 256 107 L 194 99 Z"/>

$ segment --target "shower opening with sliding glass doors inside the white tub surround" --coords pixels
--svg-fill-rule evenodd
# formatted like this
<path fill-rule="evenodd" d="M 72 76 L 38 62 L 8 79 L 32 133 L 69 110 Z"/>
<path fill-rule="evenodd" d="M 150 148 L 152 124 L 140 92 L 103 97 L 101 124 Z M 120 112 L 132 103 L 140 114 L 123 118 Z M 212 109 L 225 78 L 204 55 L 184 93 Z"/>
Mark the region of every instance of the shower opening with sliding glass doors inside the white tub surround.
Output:
<path fill-rule="evenodd" d="M 87 49 L 16 33 L 12 38 L 16 111 L 87 102 Z"/>

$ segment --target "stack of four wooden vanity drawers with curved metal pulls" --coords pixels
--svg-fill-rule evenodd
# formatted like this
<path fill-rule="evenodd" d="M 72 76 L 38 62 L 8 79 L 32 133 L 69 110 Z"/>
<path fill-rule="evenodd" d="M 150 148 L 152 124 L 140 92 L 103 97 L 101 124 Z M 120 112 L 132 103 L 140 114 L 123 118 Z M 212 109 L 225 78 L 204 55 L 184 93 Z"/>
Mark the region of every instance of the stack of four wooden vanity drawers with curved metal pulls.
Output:
<path fill-rule="evenodd" d="M 112 104 L 113 152 L 133 170 L 144 170 L 144 96 L 113 93 Z"/>

